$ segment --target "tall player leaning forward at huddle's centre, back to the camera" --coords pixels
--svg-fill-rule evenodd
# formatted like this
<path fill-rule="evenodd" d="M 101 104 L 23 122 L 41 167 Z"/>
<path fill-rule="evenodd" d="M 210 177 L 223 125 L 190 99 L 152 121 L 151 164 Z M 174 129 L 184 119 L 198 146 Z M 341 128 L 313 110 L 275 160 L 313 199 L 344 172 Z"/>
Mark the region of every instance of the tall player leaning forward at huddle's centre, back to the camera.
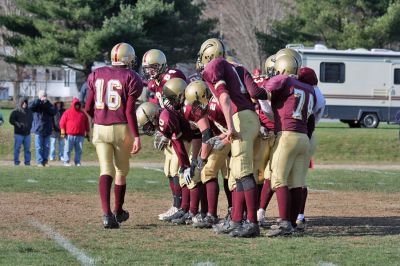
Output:
<path fill-rule="evenodd" d="M 211 92 L 218 99 L 227 124 L 226 136 L 231 144 L 230 179 L 233 190 L 232 221 L 216 226 L 217 233 L 231 236 L 258 236 L 257 189 L 253 175 L 253 151 L 260 123 L 251 98 L 266 99 L 266 92 L 243 84 L 235 66 L 224 59 L 222 41 L 208 39 L 200 47 L 198 65 Z M 251 83 L 254 83 L 250 75 Z M 244 206 L 248 221 L 241 224 Z"/>

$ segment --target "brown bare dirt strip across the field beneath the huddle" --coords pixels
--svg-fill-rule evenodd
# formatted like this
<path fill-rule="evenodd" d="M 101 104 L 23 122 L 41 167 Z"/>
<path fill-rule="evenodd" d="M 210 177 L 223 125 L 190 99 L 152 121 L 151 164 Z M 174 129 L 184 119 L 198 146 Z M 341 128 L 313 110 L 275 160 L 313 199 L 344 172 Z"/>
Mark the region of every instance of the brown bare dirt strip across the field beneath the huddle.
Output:
<path fill-rule="evenodd" d="M 142 231 L 143 235 L 151 231 L 151 237 L 173 240 L 178 227 L 157 220 L 157 215 L 170 206 L 170 194 L 164 195 L 165 198 L 160 199 L 145 193 L 128 193 L 125 207 L 130 211 L 131 219 L 123 225 L 124 228 Z M 221 193 L 220 216 L 226 214 L 224 197 Z M 77 228 L 101 228 L 102 214 L 97 195 L 1 192 L 0 198 L 2 237 L 25 241 L 44 237 L 30 225 L 32 220 L 62 230 L 70 237 L 79 234 Z M 399 198 L 399 193 L 310 191 L 306 207 L 307 234 L 316 237 L 400 234 Z M 277 216 L 275 198 L 267 216 L 271 221 Z M 197 235 L 191 227 L 185 230 Z M 194 235 L 191 234 L 190 238 Z M 209 239 L 213 233 L 204 234 L 203 231 L 198 235 Z M 180 236 L 184 238 L 184 234 Z"/>

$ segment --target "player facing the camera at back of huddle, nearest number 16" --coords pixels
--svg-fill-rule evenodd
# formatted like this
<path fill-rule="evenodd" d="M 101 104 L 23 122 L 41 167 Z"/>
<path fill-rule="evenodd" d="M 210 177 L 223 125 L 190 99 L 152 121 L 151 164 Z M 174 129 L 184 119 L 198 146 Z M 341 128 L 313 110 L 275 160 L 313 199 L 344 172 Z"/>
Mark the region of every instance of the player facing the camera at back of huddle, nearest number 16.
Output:
<path fill-rule="evenodd" d="M 186 80 L 182 71 L 168 67 L 165 54 L 158 49 L 151 49 L 144 54 L 142 67 L 145 78 L 149 80 L 149 102 L 159 105 L 160 107 L 164 107 L 162 94 L 165 83 L 172 78 Z M 156 140 L 162 138 L 162 134 L 156 132 L 155 138 Z M 165 145 L 163 152 L 165 155 L 164 174 L 169 180 L 169 186 L 173 195 L 173 204 L 166 212 L 159 214 L 159 220 L 164 220 L 164 218 L 170 217 L 176 213 L 182 203 L 182 189 L 179 185 L 178 157 L 171 145 Z"/>

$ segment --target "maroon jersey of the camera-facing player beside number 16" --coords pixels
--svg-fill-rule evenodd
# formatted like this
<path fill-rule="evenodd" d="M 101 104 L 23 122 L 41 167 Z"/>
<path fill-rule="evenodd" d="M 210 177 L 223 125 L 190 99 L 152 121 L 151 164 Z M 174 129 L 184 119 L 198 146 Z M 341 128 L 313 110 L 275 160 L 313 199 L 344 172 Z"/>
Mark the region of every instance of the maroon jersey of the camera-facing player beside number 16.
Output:
<path fill-rule="evenodd" d="M 148 88 L 150 92 L 153 94 L 152 97 L 149 98 L 149 102 L 154 104 L 158 104 L 161 107 L 164 107 L 162 100 L 162 89 L 164 84 L 173 78 L 181 78 L 186 81 L 186 76 L 179 69 L 168 69 L 167 72 L 160 76 L 159 80 L 150 80 L 148 84 Z"/>

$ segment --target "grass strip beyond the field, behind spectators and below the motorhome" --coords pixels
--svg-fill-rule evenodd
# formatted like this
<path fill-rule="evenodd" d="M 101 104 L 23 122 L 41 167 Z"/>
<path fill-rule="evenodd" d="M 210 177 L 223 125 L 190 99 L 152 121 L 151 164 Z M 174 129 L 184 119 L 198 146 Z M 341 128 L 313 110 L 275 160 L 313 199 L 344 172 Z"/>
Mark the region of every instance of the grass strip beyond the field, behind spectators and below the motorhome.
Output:
<path fill-rule="evenodd" d="M 8 123 L 9 109 L 2 110 L 6 123 L 0 127 L 0 159 L 13 159 L 13 128 Z M 399 127 L 381 124 L 377 129 L 348 128 L 343 123 L 323 122 L 316 129 L 317 164 L 397 164 L 400 163 Z M 163 154 L 153 148 L 152 138 L 142 137 L 143 149 L 134 161 L 162 162 Z M 34 144 L 32 141 L 32 150 Z M 96 161 L 93 145 L 87 141 L 83 161 Z M 383 152 L 384 151 L 384 152 Z M 34 158 L 34 154 L 33 154 Z M 32 159 L 34 160 L 34 159 Z"/>

